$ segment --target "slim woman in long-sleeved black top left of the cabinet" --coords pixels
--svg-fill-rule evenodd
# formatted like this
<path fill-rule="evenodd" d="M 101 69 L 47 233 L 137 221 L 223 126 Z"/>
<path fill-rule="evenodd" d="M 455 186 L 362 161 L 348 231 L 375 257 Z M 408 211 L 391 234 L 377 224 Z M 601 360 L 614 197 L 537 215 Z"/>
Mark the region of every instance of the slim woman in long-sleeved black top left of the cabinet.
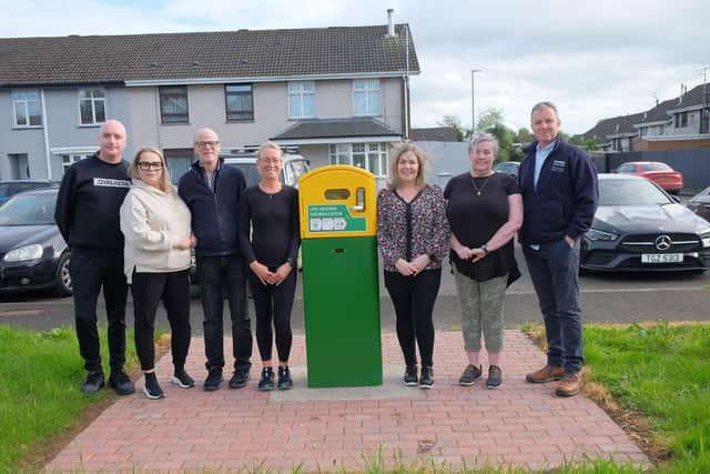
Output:
<path fill-rule="evenodd" d="M 278 354 L 278 390 L 293 386 L 291 310 L 296 290 L 298 191 L 280 181 L 283 152 L 273 142 L 257 151 L 258 184 L 240 201 L 240 243 L 251 271 L 248 281 L 256 312 L 256 344 L 263 362 L 258 390 L 274 390 L 272 320 Z M 251 232 L 250 232 L 251 231 Z M 251 239 L 250 239 L 251 233 Z"/>

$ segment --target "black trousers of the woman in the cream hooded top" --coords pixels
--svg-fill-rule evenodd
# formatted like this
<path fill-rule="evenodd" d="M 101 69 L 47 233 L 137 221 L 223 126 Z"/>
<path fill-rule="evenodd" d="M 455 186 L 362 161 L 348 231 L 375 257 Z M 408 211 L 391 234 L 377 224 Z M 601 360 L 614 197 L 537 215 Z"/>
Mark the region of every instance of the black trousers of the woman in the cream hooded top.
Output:
<path fill-rule="evenodd" d="M 190 350 L 190 280 L 187 270 L 166 273 L 133 272 L 133 319 L 135 352 L 143 371 L 155 367 L 155 313 L 163 302 L 170 322 L 173 365 L 184 367 Z"/>

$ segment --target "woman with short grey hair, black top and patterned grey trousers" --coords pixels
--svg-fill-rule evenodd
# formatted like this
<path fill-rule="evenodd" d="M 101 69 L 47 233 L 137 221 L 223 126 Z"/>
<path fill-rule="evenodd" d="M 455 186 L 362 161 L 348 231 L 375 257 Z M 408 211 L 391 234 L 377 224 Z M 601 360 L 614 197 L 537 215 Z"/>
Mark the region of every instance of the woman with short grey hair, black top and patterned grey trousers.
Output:
<path fill-rule="evenodd" d="M 468 366 L 459 379 L 473 385 L 483 376 L 480 336 L 488 352 L 488 389 L 503 382 L 503 301 L 506 288 L 520 276 L 513 236 L 523 224 L 523 198 L 514 178 L 493 171 L 498 142 L 489 133 L 468 144 L 470 173 L 453 178 L 444 195 L 452 228 L 452 266 L 462 301 Z"/>

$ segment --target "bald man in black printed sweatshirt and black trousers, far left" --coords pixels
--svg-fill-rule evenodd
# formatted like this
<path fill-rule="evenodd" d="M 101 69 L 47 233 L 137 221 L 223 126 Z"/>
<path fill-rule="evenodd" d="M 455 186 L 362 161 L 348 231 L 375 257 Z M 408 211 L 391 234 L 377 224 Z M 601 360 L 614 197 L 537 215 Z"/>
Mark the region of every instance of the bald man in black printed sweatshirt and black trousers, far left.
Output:
<path fill-rule="evenodd" d="M 97 329 L 97 300 L 102 286 L 109 320 L 109 385 L 121 395 L 135 391 L 123 371 L 128 285 L 119 209 L 131 186 L 129 163 L 121 158 L 124 148 L 125 128 L 108 120 L 99 132 L 99 151 L 67 170 L 57 196 L 54 220 L 71 248 L 69 272 L 77 339 L 88 371 L 81 390 L 87 393 L 104 385 Z"/>

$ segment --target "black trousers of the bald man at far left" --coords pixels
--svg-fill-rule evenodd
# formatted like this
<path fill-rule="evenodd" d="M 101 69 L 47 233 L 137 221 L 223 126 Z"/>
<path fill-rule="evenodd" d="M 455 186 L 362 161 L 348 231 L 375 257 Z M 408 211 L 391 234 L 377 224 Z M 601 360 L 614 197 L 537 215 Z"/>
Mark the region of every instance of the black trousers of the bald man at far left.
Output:
<path fill-rule="evenodd" d="M 69 273 L 73 286 L 74 320 L 79 352 L 88 371 L 101 370 L 101 344 L 97 327 L 97 302 L 103 288 L 109 320 L 111 372 L 125 363 L 125 299 L 128 284 L 123 274 L 123 251 L 71 250 Z"/>

